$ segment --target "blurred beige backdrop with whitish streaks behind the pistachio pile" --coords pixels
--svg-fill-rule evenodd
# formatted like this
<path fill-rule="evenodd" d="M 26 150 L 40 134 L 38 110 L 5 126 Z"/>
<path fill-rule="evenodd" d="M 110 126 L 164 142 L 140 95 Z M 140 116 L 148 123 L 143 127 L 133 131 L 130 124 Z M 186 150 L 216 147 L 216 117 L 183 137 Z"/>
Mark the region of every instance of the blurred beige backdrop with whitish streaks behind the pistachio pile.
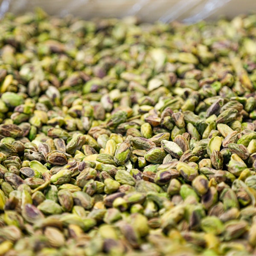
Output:
<path fill-rule="evenodd" d="M 256 0 L 0 0 L 0 16 L 6 12 L 22 14 L 41 7 L 50 15 L 93 17 L 124 17 L 136 15 L 145 22 L 232 18 L 256 11 Z"/>

